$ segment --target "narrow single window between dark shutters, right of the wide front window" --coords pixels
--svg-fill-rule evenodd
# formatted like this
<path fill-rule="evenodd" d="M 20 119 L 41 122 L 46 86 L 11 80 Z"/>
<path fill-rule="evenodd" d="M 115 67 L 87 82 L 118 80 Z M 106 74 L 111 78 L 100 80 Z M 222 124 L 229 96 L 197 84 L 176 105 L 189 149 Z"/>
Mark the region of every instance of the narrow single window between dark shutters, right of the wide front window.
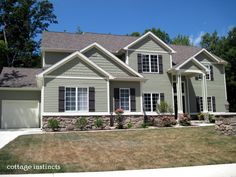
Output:
<path fill-rule="evenodd" d="M 130 89 L 120 88 L 120 108 L 130 111 Z"/>

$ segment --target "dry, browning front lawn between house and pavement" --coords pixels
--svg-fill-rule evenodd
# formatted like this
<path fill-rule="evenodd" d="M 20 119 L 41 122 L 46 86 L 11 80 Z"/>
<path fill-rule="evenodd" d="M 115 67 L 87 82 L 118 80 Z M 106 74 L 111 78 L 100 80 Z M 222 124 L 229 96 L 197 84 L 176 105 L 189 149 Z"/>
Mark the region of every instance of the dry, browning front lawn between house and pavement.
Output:
<path fill-rule="evenodd" d="M 0 173 L 148 169 L 236 162 L 236 137 L 214 127 L 47 133 L 20 136 L 0 150 Z M 9 170 L 7 165 L 60 165 Z"/>

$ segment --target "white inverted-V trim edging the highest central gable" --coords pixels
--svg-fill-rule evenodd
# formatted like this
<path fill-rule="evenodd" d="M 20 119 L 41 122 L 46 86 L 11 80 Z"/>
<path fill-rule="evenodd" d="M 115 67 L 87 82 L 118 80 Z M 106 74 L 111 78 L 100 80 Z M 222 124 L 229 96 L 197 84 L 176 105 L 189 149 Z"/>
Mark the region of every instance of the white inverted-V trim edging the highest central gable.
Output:
<path fill-rule="evenodd" d="M 133 41 L 129 45 L 125 46 L 123 49 L 128 50 L 129 47 L 133 46 L 134 44 L 138 43 L 139 41 L 141 41 L 142 39 L 144 39 L 148 36 L 152 37 L 155 41 L 157 41 L 157 43 L 160 43 L 161 45 L 163 45 L 164 48 L 168 49 L 171 53 L 176 53 L 176 51 L 174 49 L 172 49 L 170 46 L 168 46 L 164 41 L 162 41 L 160 38 L 158 38 L 156 35 L 154 35 L 151 31 L 149 31 L 146 34 L 144 34 L 143 36 L 139 37 L 138 39 L 136 39 L 135 41 Z"/>

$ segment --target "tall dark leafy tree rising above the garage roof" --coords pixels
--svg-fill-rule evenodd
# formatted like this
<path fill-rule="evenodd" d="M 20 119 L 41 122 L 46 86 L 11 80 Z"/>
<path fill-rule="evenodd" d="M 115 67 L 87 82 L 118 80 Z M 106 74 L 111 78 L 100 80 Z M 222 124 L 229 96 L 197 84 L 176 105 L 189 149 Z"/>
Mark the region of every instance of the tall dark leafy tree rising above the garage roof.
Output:
<path fill-rule="evenodd" d="M 6 54 L 4 66 L 32 67 L 38 57 L 38 34 L 57 23 L 53 4 L 48 0 L 0 0 L 0 40 Z M 1 45 L 1 48 L 3 46 Z M 1 49 L 2 50 L 2 49 Z"/>

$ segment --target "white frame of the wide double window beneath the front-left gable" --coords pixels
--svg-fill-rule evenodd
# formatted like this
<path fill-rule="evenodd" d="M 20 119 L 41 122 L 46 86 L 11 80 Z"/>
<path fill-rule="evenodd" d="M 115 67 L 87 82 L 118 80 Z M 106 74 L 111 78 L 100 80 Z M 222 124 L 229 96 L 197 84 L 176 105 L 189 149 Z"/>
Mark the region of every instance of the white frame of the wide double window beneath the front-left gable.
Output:
<path fill-rule="evenodd" d="M 72 111 L 66 110 L 66 88 L 75 88 L 75 110 L 72 110 Z M 78 110 L 78 88 L 86 88 L 87 89 L 87 110 L 84 110 L 84 111 Z M 89 112 L 89 87 L 74 87 L 74 86 L 65 87 L 64 110 L 65 110 L 65 112 L 79 112 L 79 113 Z"/>

